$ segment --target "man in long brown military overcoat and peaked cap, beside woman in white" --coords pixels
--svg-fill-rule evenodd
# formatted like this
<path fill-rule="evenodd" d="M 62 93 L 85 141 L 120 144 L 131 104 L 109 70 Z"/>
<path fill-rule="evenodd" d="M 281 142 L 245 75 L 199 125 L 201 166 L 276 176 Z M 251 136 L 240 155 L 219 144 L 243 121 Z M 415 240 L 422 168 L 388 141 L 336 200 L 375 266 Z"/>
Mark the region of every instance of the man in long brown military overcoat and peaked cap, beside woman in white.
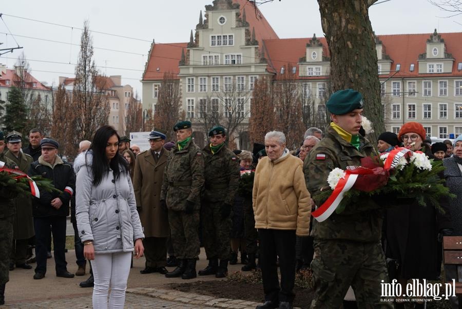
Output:
<path fill-rule="evenodd" d="M 145 268 L 141 274 L 166 274 L 167 269 L 167 209 L 160 204 L 160 193 L 168 151 L 164 149 L 166 131 L 154 129 L 149 134 L 150 149 L 137 156 L 133 175 L 133 189 L 137 200 L 141 225 L 144 228 L 143 240 Z"/>

